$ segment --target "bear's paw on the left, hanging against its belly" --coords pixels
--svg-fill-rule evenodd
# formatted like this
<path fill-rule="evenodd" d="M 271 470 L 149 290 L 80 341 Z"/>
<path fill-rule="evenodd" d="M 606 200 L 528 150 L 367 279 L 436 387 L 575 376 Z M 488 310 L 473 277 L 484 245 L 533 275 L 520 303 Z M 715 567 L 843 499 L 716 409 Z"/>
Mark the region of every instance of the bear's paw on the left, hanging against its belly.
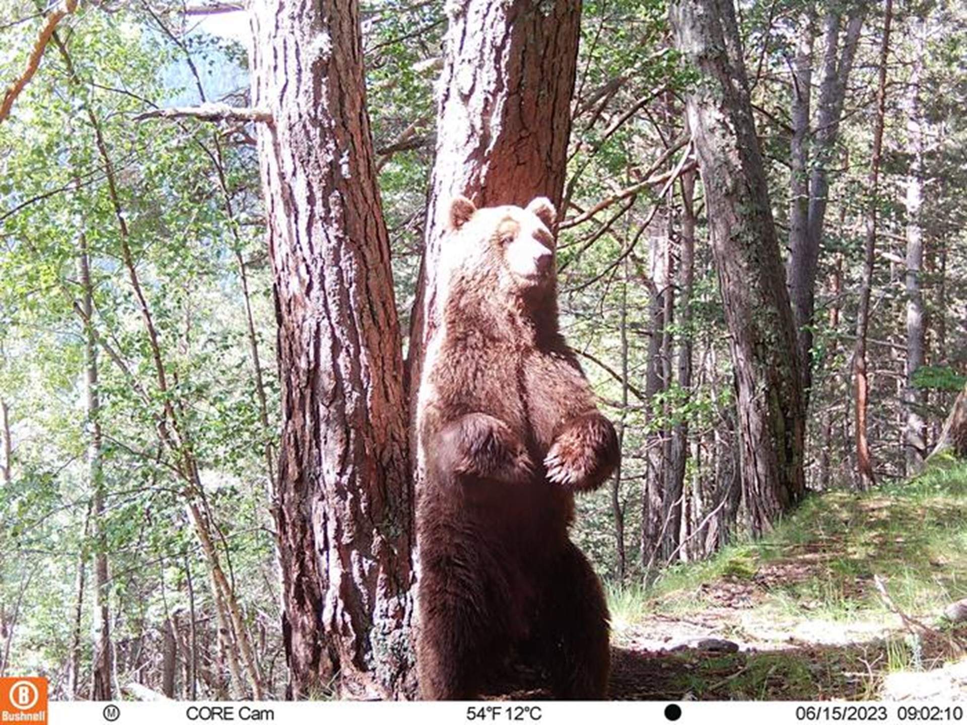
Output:
<path fill-rule="evenodd" d="M 485 413 L 471 413 L 454 422 L 445 436 L 453 455 L 454 473 L 508 482 L 531 478 L 534 464 L 510 426 Z"/>

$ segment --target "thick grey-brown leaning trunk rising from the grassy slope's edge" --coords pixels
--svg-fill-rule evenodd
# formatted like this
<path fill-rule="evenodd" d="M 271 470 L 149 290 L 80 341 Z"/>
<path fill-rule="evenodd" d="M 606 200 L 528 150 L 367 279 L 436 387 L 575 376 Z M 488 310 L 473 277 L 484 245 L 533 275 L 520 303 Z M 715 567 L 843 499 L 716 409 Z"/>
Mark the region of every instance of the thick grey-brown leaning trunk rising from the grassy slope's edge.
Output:
<path fill-rule="evenodd" d="M 704 82 L 688 97 L 738 391 L 750 531 L 772 527 L 805 492 L 802 377 L 765 167 L 731 0 L 671 8 L 676 45 Z"/>

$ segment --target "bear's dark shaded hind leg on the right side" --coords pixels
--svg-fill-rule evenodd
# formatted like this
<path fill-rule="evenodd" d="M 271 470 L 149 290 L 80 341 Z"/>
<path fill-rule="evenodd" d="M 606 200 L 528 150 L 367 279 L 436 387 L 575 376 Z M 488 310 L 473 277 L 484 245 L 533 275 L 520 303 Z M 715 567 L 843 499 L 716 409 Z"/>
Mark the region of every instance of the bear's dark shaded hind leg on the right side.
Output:
<path fill-rule="evenodd" d="M 545 663 L 560 700 L 603 700 L 611 671 L 607 603 L 601 582 L 570 541 L 555 567 L 544 607 Z"/>

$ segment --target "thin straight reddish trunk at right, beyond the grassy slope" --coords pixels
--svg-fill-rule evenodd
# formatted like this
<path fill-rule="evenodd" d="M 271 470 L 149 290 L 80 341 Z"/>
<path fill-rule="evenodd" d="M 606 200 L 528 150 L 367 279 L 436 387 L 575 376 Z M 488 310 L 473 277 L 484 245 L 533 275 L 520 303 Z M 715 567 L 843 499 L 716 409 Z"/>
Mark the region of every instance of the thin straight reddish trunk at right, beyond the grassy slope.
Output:
<path fill-rule="evenodd" d="M 873 459 L 869 451 L 866 410 L 869 404 L 869 378 L 866 372 L 866 333 L 869 330 L 869 297 L 873 286 L 873 265 L 876 252 L 876 222 L 880 189 L 880 161 L 883 156 L 883 125 L 886 119 L 887 56 L 890 53 L 890 25 L 894 3 L 886 0 L 883 21 L 883 40 L 880 43 L 879 82 L 876 91 L 876 119 L 873 124 L 873 150 L 866 188 L 869 191 L 866 211 L 863 277 L 860 287 L 860 308 L 856 317 L 856 346 L 853 350 L 853 379 L 856 403 L 856 459 L 859 487 L 865 490 L 876 482 Z"/>

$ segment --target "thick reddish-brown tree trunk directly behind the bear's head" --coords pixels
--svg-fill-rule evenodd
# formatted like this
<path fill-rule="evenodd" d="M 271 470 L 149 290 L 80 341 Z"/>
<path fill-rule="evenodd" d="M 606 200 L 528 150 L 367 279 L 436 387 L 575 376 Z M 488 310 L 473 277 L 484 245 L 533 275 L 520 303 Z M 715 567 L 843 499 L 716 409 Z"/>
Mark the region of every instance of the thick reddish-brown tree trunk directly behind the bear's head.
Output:
<path fill-rule="evenodd" d="M 447 8 L 436 160 L 406 361 L 411 405 L 437 326 L 434 273 L 450 199 L 462 194 L 480 209 L 546 196 L 560 206 L 571 135 L 580 0 L 455 0 Z M 558 211 L 563 217 L 566 210 Z"/>

